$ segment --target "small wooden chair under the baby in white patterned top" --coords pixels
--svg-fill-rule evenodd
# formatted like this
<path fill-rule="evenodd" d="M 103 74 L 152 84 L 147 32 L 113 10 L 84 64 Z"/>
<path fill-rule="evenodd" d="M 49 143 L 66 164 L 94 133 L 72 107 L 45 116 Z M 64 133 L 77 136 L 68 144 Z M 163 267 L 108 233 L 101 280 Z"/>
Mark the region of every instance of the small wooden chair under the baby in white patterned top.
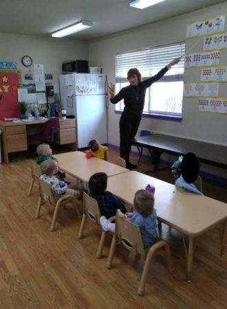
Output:
<path fill-rule="evenodd" d="M 46 181 L 39 179 L 39 202 L 36 208 L 36 215 L 35 215 L 36 218 L 39 218 L 41 206 L 46 202 L 49 202 L 51 205 L 55 207 L 54 216 L 52 218 L 52 223 L 50 226 L 50 231 L 54 231 L 59 208 L 65 206 L 67 203 L 72 203 L 74 205 L 78 218 L 81 218 L 80 211 L 78 209 L 78 199 L 75 196 L 67 194 L 59 198 L 58 201 L 55 201 L 50 183 L 47 183 Z"/>

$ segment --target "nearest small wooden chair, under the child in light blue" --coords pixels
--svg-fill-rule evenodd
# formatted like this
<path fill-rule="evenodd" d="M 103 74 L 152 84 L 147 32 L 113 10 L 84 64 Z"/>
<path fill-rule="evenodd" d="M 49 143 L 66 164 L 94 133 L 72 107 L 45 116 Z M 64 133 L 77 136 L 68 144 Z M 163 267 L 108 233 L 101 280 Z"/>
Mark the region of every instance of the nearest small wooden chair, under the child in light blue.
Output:
<path fill-rule="evenodd" d="M 167 242 L 158 238 L 155 244 L 153 244 L 151 247 L 147 249 L 144 249 L 139 227 L 130 222 L 129 220 L 126 220 L 125 218 L 120 218 L 118 215 L 116 216 L 116 229 L 109 250 L 107 268 L 112 267 L 112 261 L 114 258 L 114 251 L 116 244 L 122 244 L 126 249 L 135 253 L 136 255 L 138 254 L 142 255 L 142 258 L 145 261 L 144 268 L 142 270 L 142 276 L 140 279 L 140 284 L 138 286 L 139 295 L 143 295 L 144 293 L 144 286 L 147 281 L 149 266 L 151 264 L 151 260 L 153 258 L 154 253 L 156 253 L 158 249 L 164 249 L 166 253 L 166 260 L 169 271 L 171 273 L 175 271 L 171 251 L 169 248 L 169 244 L 167 244 Z"/>

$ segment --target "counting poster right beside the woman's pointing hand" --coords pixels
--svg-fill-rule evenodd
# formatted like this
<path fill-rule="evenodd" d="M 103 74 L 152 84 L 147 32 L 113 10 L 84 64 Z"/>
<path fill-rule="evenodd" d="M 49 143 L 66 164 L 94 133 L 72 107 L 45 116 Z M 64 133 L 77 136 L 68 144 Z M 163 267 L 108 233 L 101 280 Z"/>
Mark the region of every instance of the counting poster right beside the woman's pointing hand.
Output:
<path fill-rule="evenodd" d="M 186 67 L 206 67 L 210 65 L 218 65 L 220 51 L 187 54 L 185 56 Z"/>

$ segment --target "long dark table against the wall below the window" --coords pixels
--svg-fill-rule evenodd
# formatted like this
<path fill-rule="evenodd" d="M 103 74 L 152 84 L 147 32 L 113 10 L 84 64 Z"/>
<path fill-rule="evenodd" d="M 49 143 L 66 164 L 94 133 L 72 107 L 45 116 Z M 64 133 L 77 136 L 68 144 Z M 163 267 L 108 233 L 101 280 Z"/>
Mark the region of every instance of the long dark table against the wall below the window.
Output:
<path fill-rule="evenodd" d="M 210 165 L 216 165 L 227 169 L 227 147 L 219 146 L 192 139 L 184 139 L 163 134 L 151 134 L 142 137 L 136 137 L 131 140 L 133 146 L 154 150 L 160 155 L 162 152 L 172 155 L 185 155 L 187 152 L 194 152 L 201 162 Z"/>

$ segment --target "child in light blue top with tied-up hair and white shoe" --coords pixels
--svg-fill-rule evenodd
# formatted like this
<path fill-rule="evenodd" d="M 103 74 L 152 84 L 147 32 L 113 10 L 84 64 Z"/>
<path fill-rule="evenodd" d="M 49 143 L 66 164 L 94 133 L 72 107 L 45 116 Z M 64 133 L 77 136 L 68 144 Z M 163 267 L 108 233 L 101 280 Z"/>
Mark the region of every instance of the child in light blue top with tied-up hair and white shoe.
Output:
<path fill-rule="evenodd" d="M 151 247 L 158 236 L 157 233 L 157 214 L 154 209 L 153 193 L 146 190 L 138 190 L 134 198 L 135 211 L 127 212 L 125 218 L 135 223 L 140 228 L 144 248 Z M 119 216 L 124 216 L 120 214 Z M 104 231 L 115 231 L 115 223 L 109 222 L 105 216 L 100 217 L 100 225 Z"/>

